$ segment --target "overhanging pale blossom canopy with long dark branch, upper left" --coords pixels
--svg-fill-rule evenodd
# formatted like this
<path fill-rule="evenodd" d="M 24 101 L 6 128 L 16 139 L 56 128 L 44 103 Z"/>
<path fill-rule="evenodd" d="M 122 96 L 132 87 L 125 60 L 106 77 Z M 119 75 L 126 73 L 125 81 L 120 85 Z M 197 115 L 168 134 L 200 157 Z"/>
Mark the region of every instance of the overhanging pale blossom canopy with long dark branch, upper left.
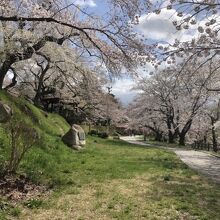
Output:
<path fill-rule="evenodd" d="M 122 67 L 134 70 L 134 54 L 145 53 L 146 46 L 123 18 L 124 6 L 112 3 L 115 10 L 103 19 L 88 14 L 75 1 L 1 1 L 0 88 L 16 62 L 30 59 L 47 42 L 68 44 L 93 62 L 98 59 L 110 74 L 120 74 Z"/>

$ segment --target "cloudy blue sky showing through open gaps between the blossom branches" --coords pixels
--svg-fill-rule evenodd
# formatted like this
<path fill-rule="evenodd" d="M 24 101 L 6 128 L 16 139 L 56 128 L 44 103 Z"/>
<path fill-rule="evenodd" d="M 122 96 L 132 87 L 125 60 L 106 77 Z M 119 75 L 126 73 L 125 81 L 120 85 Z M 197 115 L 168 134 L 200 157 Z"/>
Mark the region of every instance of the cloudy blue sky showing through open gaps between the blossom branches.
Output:
<path fill-rule="evenodd" d="M 109 7 L 107 5 L 107 0 L 75 0 L 81 6 L 85 6 L 88 12 L 94 13 L 96 15 L 105 17 L 105 14 L 108 12 Z M 152 0 L 152 2 L 158 3 L 160 0 Z M 160 1 L 164 6 L 168 4 L 169 1 Z M 173 20 L 180 19 L 177 16 L 176 10 L 166 10 L 162 9 L 159 15 L 155 13 L 149 13 L 141 15 L 139 19 L 139 25 L 136 26 L 136 30 L 143 34 L 149 39 L 149 42 L 160 42 L 161 45 L 166 46 L 168 43 L 174 43 L 175 39 L 181 41 L 191 40 L 197 33 L 197 27 L 194 30 L 182 30 L 176 31 L 175 27 L 172 24 Z M 165 67 L 166 65 L 164 65 Z M 153 71 L 153 67 L 147 65 L 148 72 Z M 140 71 L 140 75 L 143 76 L 143 71 Z M 121 79 L 115 79 L 114 84 L 112 85 L 112 92 L 118 97 L 123 104 L 128 104 L 132 101 L 136 91 L 131 90 L 135 85 L 135 82 L 132 78 L 124 77 Z"/>

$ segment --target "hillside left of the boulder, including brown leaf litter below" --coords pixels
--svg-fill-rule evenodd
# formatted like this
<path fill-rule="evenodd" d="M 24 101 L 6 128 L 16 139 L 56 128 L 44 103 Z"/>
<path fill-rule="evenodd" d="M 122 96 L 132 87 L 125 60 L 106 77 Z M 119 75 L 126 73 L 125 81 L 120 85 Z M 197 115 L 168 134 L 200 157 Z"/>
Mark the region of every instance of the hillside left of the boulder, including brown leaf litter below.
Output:
<path fill-rule="evenodd" d="M 68 163 L 68 155 L 72 150 L 61 141 L 62 135 L 69 128 L 62 117 L 46 113 L 25 99 L 13 97 L 5 92 L 0 93 L 0 101 L 13 109 L 13 122 L 22 121 L 30 129 L 34 128 L 39 136 L 37 144 L 32 146 L 22 159 L 17 174 L 6 179 L 1 177 L 0 192 L 3 199 L 0 199 L 0 219 L 2 219 L 4 211 L 14 211 L 13 206 L 4 205 L 5 199 L 6 201 L 7 198 L 15 201 L 25 199 L 29 194 L 33 196 L 37 194 L 34 191 L 47 190 L 65 183 L 67 180 L 57 173 L 65 163 Z M 3 172 L 10 157 L 9 140 L 9 127 L 7 124 L 0 124 L 0 173 Z M 38 186 L 44 187 L 38 189 Z M 26 188 L 30 188 L 33 193 Z"/>

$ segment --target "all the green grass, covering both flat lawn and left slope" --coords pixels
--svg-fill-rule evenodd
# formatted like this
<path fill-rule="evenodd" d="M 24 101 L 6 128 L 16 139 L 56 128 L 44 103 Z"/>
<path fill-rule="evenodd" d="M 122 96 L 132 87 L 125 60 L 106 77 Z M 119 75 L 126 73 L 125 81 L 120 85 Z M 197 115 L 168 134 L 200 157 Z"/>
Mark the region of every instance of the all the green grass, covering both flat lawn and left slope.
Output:
<path fill-rule="evenodd" d="M 40 198 L 11 204 L 0 199 L 0 219 L 212 219 L 219 220 L 220 187 L 184 165 L 175 154 L 120 140 L 87 137 L 86 148 L 63 145 L 67 123 L 25 100 L 0 93 L 41 135 L 18 173 L 48 187 Z M 28 106 L 29 112 L 22 109 Z M 0 161 L 9 147 L 0 128 Z M 18 217 L 19 216 L 19 217 Z"/>

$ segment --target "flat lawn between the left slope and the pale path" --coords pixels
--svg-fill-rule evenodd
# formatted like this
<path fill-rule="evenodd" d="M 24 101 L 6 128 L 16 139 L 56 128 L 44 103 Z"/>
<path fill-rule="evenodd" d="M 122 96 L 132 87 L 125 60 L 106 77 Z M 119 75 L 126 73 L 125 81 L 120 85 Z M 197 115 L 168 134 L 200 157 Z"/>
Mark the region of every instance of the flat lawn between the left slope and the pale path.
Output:
<path fill-rule="evenodd" d="M 54 191 L 20 205 L 20 219 L 219 220 L 219 185 L 171 152 L 90 137 L 54 166 Z"/>

